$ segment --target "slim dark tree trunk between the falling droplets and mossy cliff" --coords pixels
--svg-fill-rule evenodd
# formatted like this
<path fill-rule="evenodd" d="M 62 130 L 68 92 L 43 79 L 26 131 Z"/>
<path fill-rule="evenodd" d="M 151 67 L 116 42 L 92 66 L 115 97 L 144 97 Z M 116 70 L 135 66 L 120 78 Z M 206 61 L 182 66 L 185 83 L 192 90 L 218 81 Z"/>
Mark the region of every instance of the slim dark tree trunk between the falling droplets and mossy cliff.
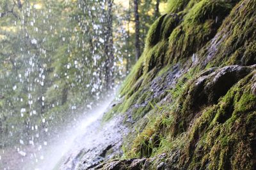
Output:
<path fill-rule="evenodd" d="M 140 15 L 138 12 L 138 2 L 139 0 L 134 0 L 134 18 L 135 18 L 135 59 L 138 60 L 141 55 L 140 51 Z"/>

